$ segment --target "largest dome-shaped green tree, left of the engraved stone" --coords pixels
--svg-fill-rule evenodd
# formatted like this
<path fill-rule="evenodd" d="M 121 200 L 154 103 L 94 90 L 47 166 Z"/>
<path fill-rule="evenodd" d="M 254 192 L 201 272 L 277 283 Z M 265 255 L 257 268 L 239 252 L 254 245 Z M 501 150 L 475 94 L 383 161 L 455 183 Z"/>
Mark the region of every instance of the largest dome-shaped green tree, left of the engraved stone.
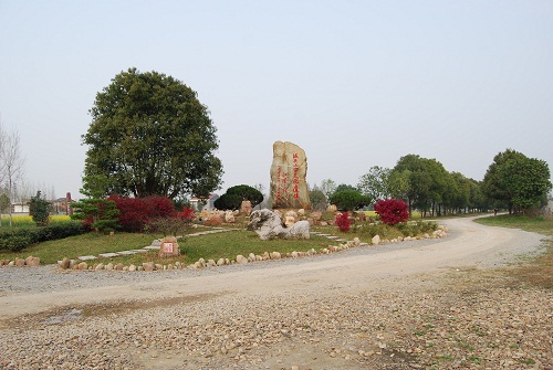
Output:
<path fill-rule="evenodd" d="M 182 82 L 129 68 L 97 93 L 90 113 L 84 193 L 175 199 L 219 187 L 216 127 Z"/>

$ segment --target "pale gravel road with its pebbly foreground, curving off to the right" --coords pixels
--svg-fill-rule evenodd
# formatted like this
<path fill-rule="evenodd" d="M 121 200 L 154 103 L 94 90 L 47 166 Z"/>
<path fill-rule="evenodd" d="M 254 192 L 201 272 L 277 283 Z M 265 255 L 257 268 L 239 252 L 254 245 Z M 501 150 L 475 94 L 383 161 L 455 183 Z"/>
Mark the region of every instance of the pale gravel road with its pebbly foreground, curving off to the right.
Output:
<path fill-rule="evenodd" d="M 201 271 L 0 267 L 0 369 L 553 369 L 553 294 L 494 267 L 542 235 L 449 235 Z"/>

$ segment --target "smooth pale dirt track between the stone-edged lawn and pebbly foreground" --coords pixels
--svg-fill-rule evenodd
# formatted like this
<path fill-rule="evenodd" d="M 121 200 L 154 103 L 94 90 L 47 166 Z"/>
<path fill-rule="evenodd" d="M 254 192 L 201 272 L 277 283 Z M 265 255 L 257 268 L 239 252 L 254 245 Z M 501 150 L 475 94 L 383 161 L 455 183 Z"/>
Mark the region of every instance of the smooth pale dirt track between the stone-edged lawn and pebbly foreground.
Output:
<path fill-rule="evenodd" d="M 442 240 L 357 249 L 301 261 L 263 262 L 241 268 L 218 267 L 205 274 L 189 271 L 180 274 L 137 273 L 137 276 L 127 279 L 128 276 L 121 276 L 121 273 L 54 274 L 53 267 L 45 267 L 41 273 L 29 274 L 24 268 L 10 271 L 4 267 L 4 287 L 10 285 L 10 279 L 11 284 L 17 281 L 18 285 L 27 286 L 25 292 L 0 292 L 0 317 L 10 318 L 71 304 L 171 298 L 208 292 L 247 290 L 250 295 L 263 296 L 274 294 L 275 286 L 298 294 L 305 289 L 328 287 L 364 290 L 386 286 L 407 275 L 513 263 L 517 255 L 535 253 L 543 237 L 517 230 L 482 226 L 472 222 L 472 218 L 445 220 L 442 224 L 450 231 Z M 17 274 L 9 275 L 12 272 Z M 103 275 L 92 276 L 93 274 Z M 98 279 L 102 282 L 101 286 L 96 286 Z M 44 289 L 44 283 L 51 289 Z M 35 293 L 33 288 L 45 292 Z"/>

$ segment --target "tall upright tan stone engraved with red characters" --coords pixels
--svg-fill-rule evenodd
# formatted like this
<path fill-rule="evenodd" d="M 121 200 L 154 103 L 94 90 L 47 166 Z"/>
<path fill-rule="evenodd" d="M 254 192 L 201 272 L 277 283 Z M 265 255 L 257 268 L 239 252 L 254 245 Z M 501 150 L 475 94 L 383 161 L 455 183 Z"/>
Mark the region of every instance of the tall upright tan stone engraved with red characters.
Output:
<path fill-rule="evenodd" d="M 271 199 L 273 209 L 311 209 L 305 151 L 290 141 L 273 144 Z"/>

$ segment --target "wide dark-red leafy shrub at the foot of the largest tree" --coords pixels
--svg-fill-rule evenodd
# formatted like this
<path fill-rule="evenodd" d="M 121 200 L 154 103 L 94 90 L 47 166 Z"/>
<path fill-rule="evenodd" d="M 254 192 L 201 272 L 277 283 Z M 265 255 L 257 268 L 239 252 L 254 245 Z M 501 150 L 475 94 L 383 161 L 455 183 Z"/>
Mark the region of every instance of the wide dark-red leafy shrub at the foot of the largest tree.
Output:
<path fill-rule="evenodd" d="M 112 195 L 119 210 L 118 224 L 122 231 L 140 232 L 154 219 L 176 216 L 175 207 L 168 198 L 123 198 Z"/>

